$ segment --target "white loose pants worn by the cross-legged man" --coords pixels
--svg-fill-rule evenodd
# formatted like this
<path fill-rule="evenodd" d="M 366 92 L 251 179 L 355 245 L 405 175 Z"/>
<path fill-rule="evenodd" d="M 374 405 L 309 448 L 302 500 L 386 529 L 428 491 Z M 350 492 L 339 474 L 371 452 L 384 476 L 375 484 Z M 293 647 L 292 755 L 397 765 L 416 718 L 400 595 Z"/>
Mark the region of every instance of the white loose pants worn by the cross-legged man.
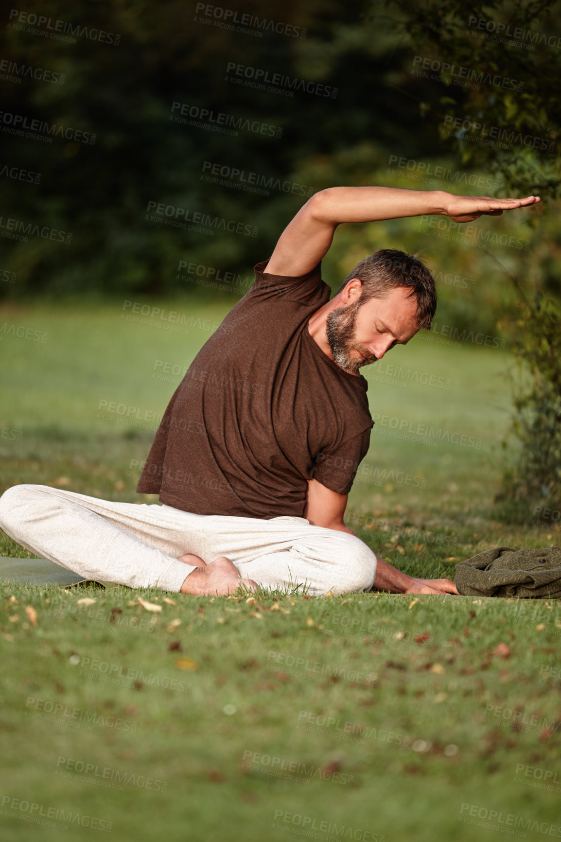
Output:
<path fill-rule="evenodd" d="M 190 514 L 14 485 L 0 497 L 0 527 L 37 556 L 129 588 L 179 592 L 195 569 L 178 561 L 187 552 L 206 563 L 226 556 L 243 578 L 265 588 L 307 584 L 314 596 L 369 590 L 376 576 L 376 556 L 360 538 L 298 517 Z"/>

